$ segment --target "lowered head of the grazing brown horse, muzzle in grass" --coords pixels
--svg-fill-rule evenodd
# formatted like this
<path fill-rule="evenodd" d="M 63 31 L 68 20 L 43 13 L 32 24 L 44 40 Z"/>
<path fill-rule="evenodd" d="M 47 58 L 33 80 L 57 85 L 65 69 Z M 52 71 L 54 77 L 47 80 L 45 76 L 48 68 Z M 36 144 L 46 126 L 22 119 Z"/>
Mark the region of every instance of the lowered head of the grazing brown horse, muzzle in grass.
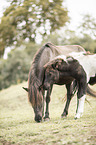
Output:
<path fill-rule="evenodd" d="M 24 88 L 28 92 L 29 102 L 33 107 L 35 113 L 35 121 L 41 122 L 43 117 L 43 89 L 39 89 L 35 82 L 34 85 L 30 85 L 30 88 Z"/>

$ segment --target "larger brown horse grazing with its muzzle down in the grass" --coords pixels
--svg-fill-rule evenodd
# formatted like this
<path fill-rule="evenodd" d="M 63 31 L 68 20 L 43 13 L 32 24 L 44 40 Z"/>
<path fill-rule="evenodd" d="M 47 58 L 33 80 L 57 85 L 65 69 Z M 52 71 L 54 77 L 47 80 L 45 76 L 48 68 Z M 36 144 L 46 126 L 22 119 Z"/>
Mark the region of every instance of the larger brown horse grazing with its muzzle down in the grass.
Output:
<path fill-rule="evenodd" d="M 32 66 L 29 71 L 28 77 L 28 88 L 25 90 L 28 91 L 29 102 L 31 103 L 34 113 L 35 121 L 40 122 L 43 117 L 44 112 L 44 92 L 45 90 L 40 89 L 41 82 L 43 79 L 42 70 L 43 66 L 55 58 L 58 55 L 64 54 L 68 55 L 70 52 L 81 52 L 84 51 L 84 48 L 78 45 L 65 45 L 65 46 L 55 46 L 52 43 L 46 43 L 41 47 L 36 55 L 34 56 Z M 48 103 L 50 101 L 50 94 L 52 91 L 52 86 L 47 90 L 46 95 L 46 110 L 48 108 Z M 48 112 L 45 112 L 45 118 L 48 118 Z"/>

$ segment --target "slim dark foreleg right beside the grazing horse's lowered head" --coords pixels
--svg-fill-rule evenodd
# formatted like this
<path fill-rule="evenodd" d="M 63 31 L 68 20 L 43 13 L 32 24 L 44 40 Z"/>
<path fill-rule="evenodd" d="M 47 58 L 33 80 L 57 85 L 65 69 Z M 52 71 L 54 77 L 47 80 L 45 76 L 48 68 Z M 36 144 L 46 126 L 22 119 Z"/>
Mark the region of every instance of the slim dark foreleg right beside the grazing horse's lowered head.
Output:
<path fill-rule="evenodd" d="M 53 88 L 53 85 L 47 90 L 47 95 L 46 95 L 46 111 L 45 111 L 45 117 L 44 117 L 45 121 L 50 119 L 50 117 L 49 117 L 49 103 L 50 103 L 50 95 L 51 95 L 51 92 L 52 92 L 52 88 Z"/>

